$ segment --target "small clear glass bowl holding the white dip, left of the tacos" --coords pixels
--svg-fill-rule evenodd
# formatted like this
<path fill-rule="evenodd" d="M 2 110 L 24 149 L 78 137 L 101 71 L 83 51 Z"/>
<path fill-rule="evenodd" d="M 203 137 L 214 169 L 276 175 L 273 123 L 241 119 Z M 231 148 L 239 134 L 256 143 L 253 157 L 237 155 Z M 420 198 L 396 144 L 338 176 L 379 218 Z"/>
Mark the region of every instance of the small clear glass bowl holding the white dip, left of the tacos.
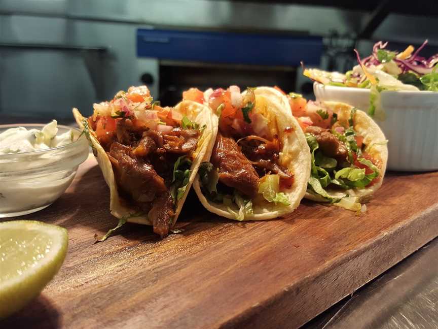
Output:
<path fill-rule="evenodd" d="M 41 130 L 44 124 L 0 125 L 6 129 L 25 127 Z M 89 153 L 81 130 L 58 125 L 58 134 L 70 130 L 74 142 L 32 152 L 0 154 L 0 218 L 21 216 L 50 206 L 64 193 Z"/>

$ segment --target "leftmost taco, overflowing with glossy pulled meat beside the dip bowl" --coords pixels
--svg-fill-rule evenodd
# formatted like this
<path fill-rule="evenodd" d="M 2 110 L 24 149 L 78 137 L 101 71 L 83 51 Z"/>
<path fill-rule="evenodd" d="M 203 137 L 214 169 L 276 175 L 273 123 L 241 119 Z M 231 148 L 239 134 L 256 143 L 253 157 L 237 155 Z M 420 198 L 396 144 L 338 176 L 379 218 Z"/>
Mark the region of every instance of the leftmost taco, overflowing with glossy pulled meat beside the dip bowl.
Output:
<path fill-rule="evenodd" d="M 73 113 L 109 186 L 116 228 L 126 221 L 147 224 L 166 236 L 214 143 L 217 118 L 191 101 L 161 107 L 145 86 L 119 91 L 93 108 L 89 118 Z"/>

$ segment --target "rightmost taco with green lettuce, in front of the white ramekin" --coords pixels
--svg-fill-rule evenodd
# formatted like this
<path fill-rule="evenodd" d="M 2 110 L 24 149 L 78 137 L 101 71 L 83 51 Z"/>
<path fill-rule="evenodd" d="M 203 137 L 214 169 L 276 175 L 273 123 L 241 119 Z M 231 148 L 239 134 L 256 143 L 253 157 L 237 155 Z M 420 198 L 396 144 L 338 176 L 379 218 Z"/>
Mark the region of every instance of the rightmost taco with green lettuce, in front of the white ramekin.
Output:
<path fill-rule="evenodd" d="M 385 135 L 365 112 L 339 102 L 306 101 L 287 94 L 311 151 L 305 198 L 364 211 L 382 185 L 388 161 Z"/>

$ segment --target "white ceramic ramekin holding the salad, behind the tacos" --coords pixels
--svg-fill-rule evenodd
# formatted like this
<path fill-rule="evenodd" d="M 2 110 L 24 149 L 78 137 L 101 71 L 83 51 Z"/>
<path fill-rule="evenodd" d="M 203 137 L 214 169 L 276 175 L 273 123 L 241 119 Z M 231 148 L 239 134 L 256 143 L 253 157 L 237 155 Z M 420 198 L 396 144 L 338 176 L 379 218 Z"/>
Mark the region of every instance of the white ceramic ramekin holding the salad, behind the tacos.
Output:
<path fill-rule="evenodd" d="M 350 104 L 365 112 L 370 90 L 313 84 L 317 101 Z M 438 170 L 438 92 L 383 91 L 384 121 L 377 121 L 388 140 L 388 169 Z"/>

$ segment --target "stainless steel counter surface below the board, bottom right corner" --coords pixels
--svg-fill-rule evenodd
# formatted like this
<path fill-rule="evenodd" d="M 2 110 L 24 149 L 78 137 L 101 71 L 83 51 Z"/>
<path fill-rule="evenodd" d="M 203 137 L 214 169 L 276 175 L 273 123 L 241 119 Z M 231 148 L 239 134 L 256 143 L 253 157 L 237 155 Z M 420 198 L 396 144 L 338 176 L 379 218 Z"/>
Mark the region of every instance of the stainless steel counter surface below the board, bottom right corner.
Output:
<path fill-rule="evenodd" d="M 438 238 L 301 329 L 438 328 Z"/>

